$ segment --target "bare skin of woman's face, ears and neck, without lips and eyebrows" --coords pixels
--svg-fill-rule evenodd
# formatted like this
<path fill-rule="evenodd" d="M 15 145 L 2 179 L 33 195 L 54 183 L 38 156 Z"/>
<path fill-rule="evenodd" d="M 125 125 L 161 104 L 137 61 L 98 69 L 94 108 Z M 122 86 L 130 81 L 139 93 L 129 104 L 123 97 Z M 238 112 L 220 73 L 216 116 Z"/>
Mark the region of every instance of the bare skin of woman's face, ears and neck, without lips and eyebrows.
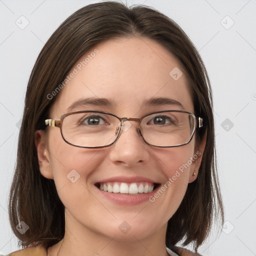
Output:
<path fill-rule="evenodd" d="M 81 97 L 104 97 L 116 102 L 114 107 L 83 106 L 75 110 L 101 110 L 117 116 L 140 117 L 153 111 L 180 109 L 176 105 L 145 106 L 151 97 L 171 97 L 184 109 L 193 112 L 188 82 L 183 74 L 170 77 L 174 67 L 182 70 L 177 59 L 149 38 L 118 38 L 97 44 L 98 53 L 57 95 L 49 118 L 59 119 Z M 89 50 L 77 61 L 84 59 Z M 105 148 L 79 148 L 67 144 L 60 129 L 48 127 L 35 132 L 35 145 L 41 174 L 54 179 L 58 195 L 65 206 L 65 235 L 48 248 L 48 255 L 167 255 L 165 232 L 168 219 L 179 206 L 187 184 L 198 173 L 198 157 L 154 202 L 118 205 L 103 198 L 94 183 L 112 176 L 140 175 L 164 184 L 180 165 L 195 153 L 194 138 L 187 145 L 160 148 L 147 145 L 137 133 L 135 122 L 117 141 Z M 205 139 L 199 146 L 203 153 Z M 75 169 L 80 178 L 67 178 Z M 192 173 L 195 171 L 195 175 Z M 127 233 L 118 226 L 126 221 Z"/>

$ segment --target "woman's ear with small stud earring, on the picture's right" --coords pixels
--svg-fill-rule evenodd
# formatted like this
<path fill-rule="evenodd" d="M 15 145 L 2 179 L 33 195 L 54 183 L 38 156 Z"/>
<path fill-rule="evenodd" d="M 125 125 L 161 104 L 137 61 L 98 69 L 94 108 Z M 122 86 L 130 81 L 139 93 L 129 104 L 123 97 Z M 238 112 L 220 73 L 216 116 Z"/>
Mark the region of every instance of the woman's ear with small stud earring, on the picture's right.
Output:
<path fill-rule="evenodd" d="M 202 140 L 199 144 L 199 148 L 197 148 L 197 150 L 194 152 L 193 155 L 193 162 L 190 165 L 190 170 L 189 170 L 189 180 L 188 183 L 193 182 L 197 175 L 198 175 L 198 170 L 201 164 L 201 160 L 202 160 L 202 155 L 203 155 L 203 151 L 205 148 L 205 144 L 206 144 L 206 138 L 207 138 L 207 129 L 205 130 Z"/>

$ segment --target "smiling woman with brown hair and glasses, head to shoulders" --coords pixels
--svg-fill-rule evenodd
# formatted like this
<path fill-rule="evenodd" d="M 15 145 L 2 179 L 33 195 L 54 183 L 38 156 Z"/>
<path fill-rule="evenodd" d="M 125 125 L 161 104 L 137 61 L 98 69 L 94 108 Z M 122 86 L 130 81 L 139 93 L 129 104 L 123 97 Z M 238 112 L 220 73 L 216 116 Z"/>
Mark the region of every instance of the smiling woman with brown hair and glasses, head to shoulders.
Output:
<path fill-rule="evenodd" d="M 106 1 L 68 17 L 32 70 L 10 255 L 192 255 L 223 220 L 207 72 L 171 19 Z"/>

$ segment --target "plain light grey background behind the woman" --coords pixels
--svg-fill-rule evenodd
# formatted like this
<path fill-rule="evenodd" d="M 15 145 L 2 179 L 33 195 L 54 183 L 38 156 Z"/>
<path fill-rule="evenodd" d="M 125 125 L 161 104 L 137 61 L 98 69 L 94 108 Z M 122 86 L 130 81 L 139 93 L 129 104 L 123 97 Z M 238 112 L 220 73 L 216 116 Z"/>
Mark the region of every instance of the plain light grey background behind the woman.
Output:
<path fill-rule="evenodd" d="M 73 11 L 93 2 L 97 1 L 0 0 L 0 252 L 3 254 L 18 248 L 8 223 L 7 196 L 31 69 L 58 25 Z M 176 21 L 199 50 L 210 76 L 226 222 L 220 233 L 212 232 L 199 252 L 256 255 L 256 0 L 127 0 L 127 3 L 150 5 Z M 25 24 L 21 15 L 29 21 L 24 29 L 15 24 L 16 20 L 20 25 Z"/>

